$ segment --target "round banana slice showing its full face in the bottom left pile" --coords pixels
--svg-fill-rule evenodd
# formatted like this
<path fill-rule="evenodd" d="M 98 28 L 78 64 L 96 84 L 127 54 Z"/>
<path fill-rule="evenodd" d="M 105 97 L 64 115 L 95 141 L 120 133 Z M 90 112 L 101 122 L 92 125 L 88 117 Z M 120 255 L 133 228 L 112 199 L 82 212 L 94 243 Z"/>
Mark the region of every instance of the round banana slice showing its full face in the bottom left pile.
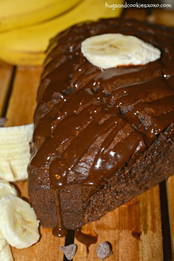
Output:
<path fill-rule="evenodd" d="M 15 195 L 0 200 L 0 230 L 7 242 L 16 248 L 27 248 L 39 240 L 39 221 L 32 207 Z"/>

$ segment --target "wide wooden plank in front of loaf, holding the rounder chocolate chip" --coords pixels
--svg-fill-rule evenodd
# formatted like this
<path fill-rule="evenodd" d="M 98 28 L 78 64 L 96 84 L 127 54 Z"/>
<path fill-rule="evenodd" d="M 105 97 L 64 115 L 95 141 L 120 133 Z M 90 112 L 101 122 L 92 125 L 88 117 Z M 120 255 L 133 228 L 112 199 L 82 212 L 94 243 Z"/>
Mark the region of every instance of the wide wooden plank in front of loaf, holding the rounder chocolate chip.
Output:
<path fill-rule="evenodd" d="M 159 186 L 156 186 L 114 211 L 106 213 L 99 221 L 85 225 L 82 231 L 86 234 L 98 234 L 98 241 L 89 247 L 89 254 L 85 259 L 86 248 L 75 239 L 78 251 L 73 261 L 98 261 L 97 246 L 102 241 L 108 241 L 112 245 L 113 254 L 107 258 L 108 261 L 162 261 L 159 211 Z M 132 232 L 142 233 L 140 240 L 135 238 Z"/>

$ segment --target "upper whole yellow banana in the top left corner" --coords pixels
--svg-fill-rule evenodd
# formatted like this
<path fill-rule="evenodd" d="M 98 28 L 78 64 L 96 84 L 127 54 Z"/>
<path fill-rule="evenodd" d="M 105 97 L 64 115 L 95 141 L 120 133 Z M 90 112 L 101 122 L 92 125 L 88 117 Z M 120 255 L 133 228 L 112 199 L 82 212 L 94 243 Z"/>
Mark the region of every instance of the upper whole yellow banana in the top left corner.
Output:
<path fill-rule="evenodd" d="M 39 23 L 74 7 L 80 0 L 1 0 L 0 32 Z"/>

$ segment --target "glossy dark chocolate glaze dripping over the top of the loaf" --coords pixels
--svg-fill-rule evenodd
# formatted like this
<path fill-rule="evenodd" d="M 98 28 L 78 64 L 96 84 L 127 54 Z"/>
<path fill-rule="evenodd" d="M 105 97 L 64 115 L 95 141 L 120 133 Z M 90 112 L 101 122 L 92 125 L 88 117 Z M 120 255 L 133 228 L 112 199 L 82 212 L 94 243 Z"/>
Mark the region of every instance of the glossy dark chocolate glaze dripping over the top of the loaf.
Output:
<path fill-rule="evenodd" d="M 159 48 L 161 58 L 144 66 L 97 68 L 83 57 L 80 47 L 87 37 L 103 33 L 139 37 Z M 29 168 L 49 168 L 58 217 L 54 235 L 67 233 L 61 188 L 96 139 L 106 135 L 81 182 L 84 204 L 103 179 L 174 123 L 172 43 L 172 29 L 122 19 L 73 26 L 51 40 L 38 91 L 35 115 L 40 120 L 35 121 L 35 153 Z M 43 142 L 37 147 L 39 138 Z"/>

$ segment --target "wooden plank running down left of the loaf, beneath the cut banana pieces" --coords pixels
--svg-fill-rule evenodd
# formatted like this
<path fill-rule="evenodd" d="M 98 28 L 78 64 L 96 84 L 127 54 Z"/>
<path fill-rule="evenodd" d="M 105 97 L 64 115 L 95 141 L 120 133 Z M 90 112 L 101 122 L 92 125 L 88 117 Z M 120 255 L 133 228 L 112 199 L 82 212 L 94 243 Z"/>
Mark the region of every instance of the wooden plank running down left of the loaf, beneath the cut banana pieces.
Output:
<path fill-rule="evenodd" d="M 6 126 L 22 125 L 33 122 L 36 106 L 36 93 L 40 80 L 41 68 L 18 67 L 13 84 L 13 90 L 8 104 Z M 15 184 L 23 198 L 28 199 L 27 182 Z M 59 246 L 64 245 L 64 238 L 55 238 L 52 229 L 40 228 L 40 240 L 37 244 L 25 248 L 11 247 L 15 261 L 55 261 L 63 260 Z"/>

